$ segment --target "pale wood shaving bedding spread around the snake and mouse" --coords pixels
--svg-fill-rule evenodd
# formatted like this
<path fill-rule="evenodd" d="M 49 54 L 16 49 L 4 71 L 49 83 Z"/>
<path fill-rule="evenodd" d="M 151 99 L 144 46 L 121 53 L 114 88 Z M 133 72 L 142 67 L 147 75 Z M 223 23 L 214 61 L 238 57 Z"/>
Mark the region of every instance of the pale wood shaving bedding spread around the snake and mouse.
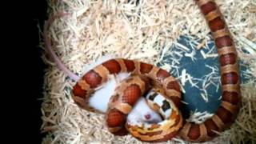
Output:
<path fill-rule="evenodd" d="M 254 0 L 216 2 L 234 36 L 239 58 L 248 66 L 245 73 L 254 75 L 254 79 L 241 86 L 242 110 L 235 124 L 207 143 L 256 142 L 256 3 Z M 192 0 L 141 0 L 137 5 L 135 0 L 49 1 L 50 15 L 62 12 L 70 15 L 57 18 L 50 26 L 49 36 L 62 62 L 79 75 L 83 74 L 86 65 L 108 54 L 153 64 L 161 62 L 168 53 L 185 55 L 193 61 L 194 51 L 207 49 L 206 44 L 212 39 Z M 181 35 L 190 37 L 192 49 L 178 43 Z M 181 50 L 172 50 L 172 45 Z M 205 58 L 215 56 L 205 54 Z M 46 133 L 42 143 L 146 143 L 130 135 L 116 137 L 110 134 L 103 115 L 81 110 L 74 104 L 70 96 L 74 82 L 66 78 L 46 54 L 42 59 L 49 65 L 42 98 L 42 133 Z M 178 73 L 178 58 L 175 59 L 174 63 L 164 63 L 162 68 Z M 182 74 L 177 75 L 182 78 Z M 185 80 L 196 85 L 189 75 L 186 71 Z M 186 142 L 174 138 L 167 143 Z"/>

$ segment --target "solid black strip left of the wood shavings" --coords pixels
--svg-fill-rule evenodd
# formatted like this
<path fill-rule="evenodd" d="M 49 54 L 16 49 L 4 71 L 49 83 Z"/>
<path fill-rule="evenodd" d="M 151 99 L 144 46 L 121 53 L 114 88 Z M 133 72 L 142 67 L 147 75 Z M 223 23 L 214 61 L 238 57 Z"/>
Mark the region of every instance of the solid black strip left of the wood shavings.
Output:
<path fill-rule="evenodd" d="M 39 29 L 47 20 L 46 0 L 2 3 L 3 143 L 41 143 L 43 76 Z M 42 38 L 42 36 L 41 36 Z M 2 87 L 2 86 L 1 86 Z"/>

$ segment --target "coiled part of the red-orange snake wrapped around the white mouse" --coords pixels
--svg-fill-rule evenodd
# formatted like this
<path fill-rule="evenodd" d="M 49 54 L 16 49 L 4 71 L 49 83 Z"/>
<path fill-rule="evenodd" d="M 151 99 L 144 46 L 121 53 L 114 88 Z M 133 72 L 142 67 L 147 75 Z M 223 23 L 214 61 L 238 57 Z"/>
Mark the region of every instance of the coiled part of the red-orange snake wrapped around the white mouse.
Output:
<path fill-rule="evenodd" d="M 127 133 L 127 129 L 136 138 L 150 142 L 162 142 L 174 137 L 182 126 L 182 115 L 178 111 L 178 107 L 181 106 L 181 90 L 175 78 L 158 66 L 124 58 L 115 58 L 103 62 L 84 74 L 82 79 L 74 86 L 74 102 L 77 102 L 85 110 L 98 112 L 88 104 L 91 94 L 108 80 L 110 74 L 123 72 L 131 73 L 135 76 L 122 82 L 116 88 L 114 96 L 111 97 L 110 110 L 106 114 L 106 124 L 110 132 L 123 135 Z M 150 86 L 161 88 L 163 94 L 171 102 L 174 102 L 172 105 L 169 104 L 169 106 L 173 107 L 173 112 L 166 116 L 168 118 L 166 118 L 167 120 L 163 125 L 142 126 L 140 128 L 126 125 L 125 127 L 127 114 L 130 113 L 138 98 L 150 89 Z M 141 130 L 141 133 L 138 133 L 137 130 Z"/>

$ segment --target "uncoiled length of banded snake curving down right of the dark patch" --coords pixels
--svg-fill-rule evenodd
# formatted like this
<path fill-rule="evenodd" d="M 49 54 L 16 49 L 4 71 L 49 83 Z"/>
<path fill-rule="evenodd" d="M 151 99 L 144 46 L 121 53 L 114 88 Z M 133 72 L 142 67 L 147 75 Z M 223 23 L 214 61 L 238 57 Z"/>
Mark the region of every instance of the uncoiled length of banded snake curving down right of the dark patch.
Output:
<path fill-rule="evenodd" d="M 190 142 L 203 142 L 216 137 L 214 131 L 228 128 L 236 118 L 241 104 L 238 56 L 230 31 L 216 3 L 212 0 L 195 0 L 210 27 L 218 50 L 222 82 L 221 106 L 214 116 L 201 124 L 185 122 L 179 135 Z"/>

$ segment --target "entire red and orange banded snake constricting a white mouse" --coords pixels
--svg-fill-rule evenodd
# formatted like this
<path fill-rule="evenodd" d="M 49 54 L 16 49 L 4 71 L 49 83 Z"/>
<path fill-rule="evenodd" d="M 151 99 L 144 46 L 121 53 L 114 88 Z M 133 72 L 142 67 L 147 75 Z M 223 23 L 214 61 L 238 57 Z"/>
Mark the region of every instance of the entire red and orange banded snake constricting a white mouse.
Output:
<path fill-rule="evenodd" d="M 177 113 L 174 113 L 176 115 L 170 118 L 170 120 L 174 121 L 172 126 L 176 126 L 174 129 L 171 129 L 171 126 L 169 126 L 169 130 L 163 130 L 163 127 L 154 126 L 153 128 L 146 129 L 146 132 L 145 129 L 143 131 L 138 127 L 137 129 L 133 127 L 132 130 L 129 126 L 125 128 L 123 124 L 126 121 L 126 116 L 124 115 L 129 113 L 137 98 L 142 96 L 148 89 L 146 83 L 149 80 L 147 78 L 151 79 L 154 86 L 162 87 L 164 93 L 174 102 L 176 107 L 181 106 L 181 94 L 178 82 L 166 70 L 148 63 L 124 58 L 110 59 L 84 74 L 74 86 L 74 102 L 86 110 L 95 112 L 88 105 L 90 94 L 94 93 L 99 86 L 102 86 L 102 83 L 108 80 L 110 74 L 128 72 L 140 75 L 140 78 L 137 78 L 138 81 L 134 81 L 136 78 L 132 78 L 133 82 L 129 83 L 128 80 L 128 83 L 126 82 L 123 86 L 116 89 L 120 93 L 119 96 L 122 95 L 122 100 L 118 102 L 125 108 L 122 106 L 123 109 L 115 107 L 113 105 L 115 98 L 114 96 L 111 98 L 112 104 L 110 104 L 110 110 L 108 110 L 106 117 L 106 123 L 109 126 L 110 132 L 126 134 L 126 130 L 130 129 L 129 131 L 134 133 L 136 138 L 149 142 L 166 141 L 174 137 L 175 134 L 190 142 L 204 142 L 216 137 L 218 134 L 215 131 L 221 132 L 228 128 L 234 122 L 241 102 L 238 56 L 234 48 L 234 41 L 216 3 L 212 0 L 195 0 L 195 2 L 197 2 L 202 14 L 206 18 L 219 55 L 222 102 L 213 117 L 201 124 L 184 121 L 184 125 L 182 125 L 182 118 L 177 110 Z M 180 130 L 178 130 L 179 128 Z M 140 134 L 138 134 L 138 131 L 140 131 Z"/>

